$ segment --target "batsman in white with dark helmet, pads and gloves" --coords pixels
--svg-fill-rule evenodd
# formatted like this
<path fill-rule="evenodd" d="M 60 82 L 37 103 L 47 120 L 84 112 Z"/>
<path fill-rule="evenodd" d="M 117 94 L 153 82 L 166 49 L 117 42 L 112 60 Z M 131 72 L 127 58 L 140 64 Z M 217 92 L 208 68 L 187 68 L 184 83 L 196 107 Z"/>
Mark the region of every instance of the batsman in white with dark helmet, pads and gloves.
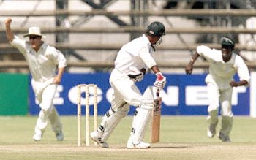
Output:
<path fill-rule="evenodd" d="M 132 122 L 132 132 L 127 142 L 127 148 L 150 148 L 150 144 L 143 142 L 146 124 L 151 117 L 154 94 L 153 87 L 146 89 L 142 95 L 135 82 L 143 80 L 146 68 L 156 74 L 154 86 L 164 88 L 165 76 L 159 71 L 151 53 L 162 42 L 165 26 L 160 22 L 151 23 L 146 33 L 133 39 L 121 47 L 115 61 L 115 69 L 110 75 L 110 85 L 113 88 L 113 100 L 110 110 L 102 118 L 97 131 L 91 132 L 90 137 L 102 148 L 108 148 L 108 137 L 115 129 L 121 118 L 129 112 L 129 105 L 136 108 Z"/>

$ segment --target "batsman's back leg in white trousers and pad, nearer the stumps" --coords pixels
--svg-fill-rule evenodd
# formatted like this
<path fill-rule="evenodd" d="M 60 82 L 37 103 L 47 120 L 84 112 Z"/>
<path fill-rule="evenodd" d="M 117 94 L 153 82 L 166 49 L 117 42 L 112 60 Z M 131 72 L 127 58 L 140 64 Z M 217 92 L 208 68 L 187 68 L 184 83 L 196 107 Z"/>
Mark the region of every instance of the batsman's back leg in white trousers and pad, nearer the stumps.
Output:
<path fill-rule="evenodd" d="M 110 75 L 110 85 L 114 91 L 111 107 L 102 118 L 99 127 L 99 130 L 104 129 L 102 142 L 108 140 L 108 137 L 119 121 L 121 121 L 121 118 L 127 115 L 129 105 L 139 106 L 142 99 L 142 94 L 135 83 L 129 80 L 127 75 L 118 72 L 116 69 Z"/>

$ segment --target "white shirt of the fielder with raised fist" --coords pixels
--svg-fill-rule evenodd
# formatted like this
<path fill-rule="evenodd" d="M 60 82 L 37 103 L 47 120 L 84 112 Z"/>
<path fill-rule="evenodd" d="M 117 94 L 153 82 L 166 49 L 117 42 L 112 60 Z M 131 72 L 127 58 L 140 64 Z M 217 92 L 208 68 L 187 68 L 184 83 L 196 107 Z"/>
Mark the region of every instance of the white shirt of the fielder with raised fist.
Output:
<path fill-rule="evenodd" d="M 26 58 L 29 64 L 31 75 L 35 81 L 45 82 L 45 80 L 56 76 L 56 66 L 59 68 L 67 66 L 64 55 L 55 47 L 51 47 L 43 42 L 42 46 L 36 52 L 29 42 L 14 37 L 10 43 L 16 47 Z"/>

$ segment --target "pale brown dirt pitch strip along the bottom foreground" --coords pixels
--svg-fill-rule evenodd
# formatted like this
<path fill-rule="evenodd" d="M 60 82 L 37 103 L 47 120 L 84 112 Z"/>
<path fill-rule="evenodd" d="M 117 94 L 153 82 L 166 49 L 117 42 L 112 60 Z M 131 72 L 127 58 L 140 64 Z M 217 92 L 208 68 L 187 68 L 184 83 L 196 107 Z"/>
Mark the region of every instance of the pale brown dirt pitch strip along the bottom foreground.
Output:
<path fill-rule="evenodd" d="M 77 147 L 61 144 L 1 145 L 0 159 L 202 159 L 253 160 L 255 144 L 154 144 L 148 149 Z"/>

